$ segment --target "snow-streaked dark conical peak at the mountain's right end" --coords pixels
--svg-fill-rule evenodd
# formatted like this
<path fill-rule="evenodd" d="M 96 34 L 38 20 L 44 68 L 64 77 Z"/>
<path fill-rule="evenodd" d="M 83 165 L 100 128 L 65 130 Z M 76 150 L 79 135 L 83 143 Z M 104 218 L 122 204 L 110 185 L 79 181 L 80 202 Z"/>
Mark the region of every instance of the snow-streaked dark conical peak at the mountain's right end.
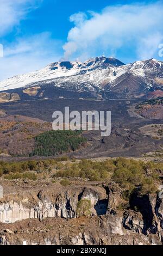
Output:
<path fill-rule="evenodd" d="M 147 93 L 161 89 L 163 63 L 155 59 L 137 61 L 116 69 L 116 78 L 105 84 L 108 92 Z"/>

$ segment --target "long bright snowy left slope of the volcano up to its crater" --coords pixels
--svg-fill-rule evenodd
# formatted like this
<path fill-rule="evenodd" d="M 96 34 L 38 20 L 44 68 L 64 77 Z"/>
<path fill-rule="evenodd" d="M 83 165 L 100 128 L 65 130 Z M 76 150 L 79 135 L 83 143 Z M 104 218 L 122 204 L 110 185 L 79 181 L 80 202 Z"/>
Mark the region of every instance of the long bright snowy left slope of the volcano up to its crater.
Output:
<path fill-rule="evenodd" d="M 111 63 L 111 64 L 110 64 Z M 70 80 L 73 76 L 78 75 L 79 78 L 86 75 L 86 80 L 96 80 L 96 78 L 105 71 L 115 66 L 124 65 L 119 60 L 113 58 L 92 58 L 87 60 L 85 63 L 80 62 L 58 62 L 51 63 L 41 70 L 30 72 L 29 74 L 17 75 L 0 82 L 0 90 L 10 90 L 21 87 L 29 86 L 32 83 L 55 80 L 56 78 L 69 77 Z M 99 69 L 99 72 L 97 72 Z M 93 72 L 94 71 L 94 72 Z M 98 73 L 98 75 L 97 75 Z M 88 75 L 90 74 L 90 75 Z M 80 80 L 80 79 L 79 79 Z M 83 79 L 82 79 L 83 80 Z M 99 79 L 97 79 L 99 80 Z M 85 78 L 84 78 L 85 81 Z"/>

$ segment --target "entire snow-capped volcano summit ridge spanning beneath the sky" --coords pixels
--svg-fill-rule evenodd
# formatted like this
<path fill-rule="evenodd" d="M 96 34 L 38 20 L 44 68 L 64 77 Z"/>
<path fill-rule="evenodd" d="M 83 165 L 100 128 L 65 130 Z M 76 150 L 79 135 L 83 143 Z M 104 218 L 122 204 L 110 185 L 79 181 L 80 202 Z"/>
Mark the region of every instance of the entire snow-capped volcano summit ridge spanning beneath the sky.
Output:
<path fill-rule="evenodd" d="M 81 62 L 56 62 L 45 68 L 0 82 L 0 90 L 30 87 L 61 88 L 73 92 L 105 92 L 141 96 L 162 90 L 163 62 L 156 59 L 133 64 L 115 58 L 97 57 Z"/>

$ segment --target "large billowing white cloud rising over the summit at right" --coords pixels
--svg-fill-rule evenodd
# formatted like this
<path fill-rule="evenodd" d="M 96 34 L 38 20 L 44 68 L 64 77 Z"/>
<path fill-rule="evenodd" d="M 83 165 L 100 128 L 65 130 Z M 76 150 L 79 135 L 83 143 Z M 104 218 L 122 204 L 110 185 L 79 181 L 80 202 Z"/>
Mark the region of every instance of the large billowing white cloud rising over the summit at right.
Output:
<path fill-rule="evenodd" d="M 124 46 L 137 58 L 151 58 L 163 35 L 163 3 L 106 7 L 101 13 L 74 14 L 74 27 L 64 45 L 65 59 L 116 53 Z"/>

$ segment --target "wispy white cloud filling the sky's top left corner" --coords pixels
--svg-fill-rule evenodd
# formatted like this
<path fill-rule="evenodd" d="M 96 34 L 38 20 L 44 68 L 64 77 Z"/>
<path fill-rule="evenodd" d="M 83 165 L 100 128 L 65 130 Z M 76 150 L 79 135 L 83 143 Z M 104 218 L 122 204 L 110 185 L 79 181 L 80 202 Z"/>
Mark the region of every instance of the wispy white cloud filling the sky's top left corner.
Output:
<path fill-rule="evenodd" d="M 0 0 L 0 36 L 17 26 L 42 0 Z"/>

